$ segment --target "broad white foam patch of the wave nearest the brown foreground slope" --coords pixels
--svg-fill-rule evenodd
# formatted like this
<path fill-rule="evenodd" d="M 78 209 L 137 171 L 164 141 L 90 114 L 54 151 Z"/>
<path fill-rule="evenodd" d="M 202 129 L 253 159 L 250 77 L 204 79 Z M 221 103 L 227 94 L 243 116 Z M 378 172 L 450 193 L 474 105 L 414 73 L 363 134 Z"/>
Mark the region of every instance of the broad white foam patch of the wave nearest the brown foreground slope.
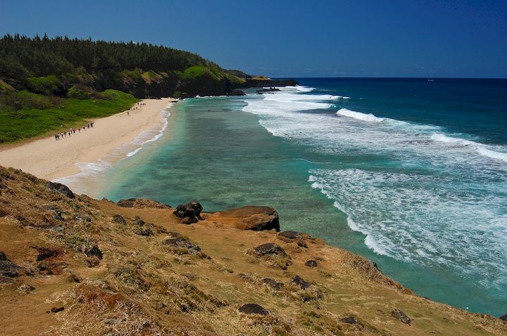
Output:
<path fill-rule="evenodd" d="M 424 265 L 444 265 L 477 275 L 484 284 L 502 285 L 494 274 L 507 271 L 507 213 L 503 188 L 484 194 L 470 181 L 453 183 L 439 176 L 313 169 L 319 189 L 344 212 L 353 231 L 377 254 Z M 477 182 L 477 190 L 484 188 Z M 403 209 L 403 211 L 401 211 Z"/>

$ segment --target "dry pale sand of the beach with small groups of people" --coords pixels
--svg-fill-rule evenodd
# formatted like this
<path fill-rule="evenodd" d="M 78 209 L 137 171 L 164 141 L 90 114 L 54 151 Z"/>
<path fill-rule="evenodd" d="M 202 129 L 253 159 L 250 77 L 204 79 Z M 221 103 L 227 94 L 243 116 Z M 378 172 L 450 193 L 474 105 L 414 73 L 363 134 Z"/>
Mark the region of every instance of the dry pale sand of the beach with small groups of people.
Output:
<path fill-rule="evenodd" d="M 54 180 L 80 172 L 77 163 L 94 162 L 114 148 L 130 143 L 144 131 L 162 127 L 161 110 L 173 98 L 144 99 L 137 110 L 100 119 L 87 128 L 58 141 L 54 136 L 11 148 L 0 148 L 0 165 Z"/>

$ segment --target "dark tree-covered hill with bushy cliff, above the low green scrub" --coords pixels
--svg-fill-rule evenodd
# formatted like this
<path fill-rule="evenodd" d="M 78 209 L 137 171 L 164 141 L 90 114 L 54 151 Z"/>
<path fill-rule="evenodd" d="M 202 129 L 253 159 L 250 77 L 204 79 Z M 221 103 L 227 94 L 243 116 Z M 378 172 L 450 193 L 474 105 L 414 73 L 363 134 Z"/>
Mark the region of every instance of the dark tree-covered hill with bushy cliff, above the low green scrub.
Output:
<path fill-rule="evenodd" d="M 213 95 L 225 94 L 243 80 L 196 53 L 165 46 L 47 35 L 0 38 L 0 93 L 71 92 L 84 98 L 94 96 L 93 91 L 118 89 L 138 98 Z"/>

